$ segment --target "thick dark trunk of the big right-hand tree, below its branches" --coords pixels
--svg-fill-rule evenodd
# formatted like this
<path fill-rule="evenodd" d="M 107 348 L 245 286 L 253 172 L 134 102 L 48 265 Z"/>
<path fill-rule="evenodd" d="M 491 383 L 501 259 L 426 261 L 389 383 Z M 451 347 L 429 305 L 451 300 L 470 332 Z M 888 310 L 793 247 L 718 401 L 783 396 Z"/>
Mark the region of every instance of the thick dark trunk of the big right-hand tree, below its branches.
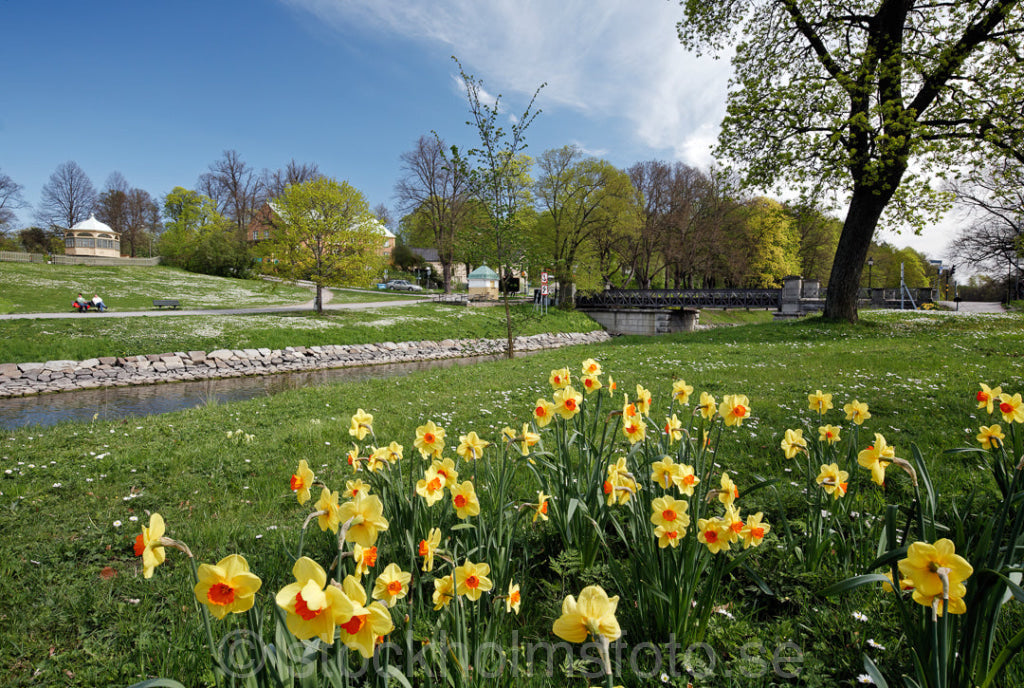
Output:
<path fill-rule="evenodd" d="M 871 247 L 871 238 L 891 193 L 858 187 L 850 200 L 850 210 L 836 247 L 831 274 L 825 295 L 824 316 L 831 320 L 857 321 L 857 294 L 860 273 Z"/>

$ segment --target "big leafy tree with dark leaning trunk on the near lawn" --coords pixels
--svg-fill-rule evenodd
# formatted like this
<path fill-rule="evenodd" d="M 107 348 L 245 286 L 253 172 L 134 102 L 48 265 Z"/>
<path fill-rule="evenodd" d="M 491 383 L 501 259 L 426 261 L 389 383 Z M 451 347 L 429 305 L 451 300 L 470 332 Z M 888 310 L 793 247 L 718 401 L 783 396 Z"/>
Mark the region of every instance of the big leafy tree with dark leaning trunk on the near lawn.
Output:
<path fill-rule="evenodd" d="M 826 317 L 857 319 L 883 212 L 920 226 L 944 206 L 930 175 L 1021 149 L 1020 0 L 681 4 L 687 47 L 735 43 L 718 154 L 753 186 L 849 193 Z"/>

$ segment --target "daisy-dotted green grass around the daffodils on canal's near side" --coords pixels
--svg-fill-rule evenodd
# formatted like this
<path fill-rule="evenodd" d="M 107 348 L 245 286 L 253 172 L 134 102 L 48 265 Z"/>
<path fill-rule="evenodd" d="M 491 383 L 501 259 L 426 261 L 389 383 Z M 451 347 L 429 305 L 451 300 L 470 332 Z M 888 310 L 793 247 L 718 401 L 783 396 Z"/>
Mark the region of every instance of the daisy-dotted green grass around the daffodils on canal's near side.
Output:
<path fill-rule="evenodd" d="M 403 462 L 419 471 L 424 462 L 412 444 L 421 423 L 432 419 L 445 427 L 452 447 L 470 430 L 497 441 L 502 427 L 518 427 L 530 418 L 539 397 L 550 398 L 550 370 L 566 365 L 575 377 L 587 357 L 597 358 L 616 380 L 620 392 L 612 406 L 621 403 L 623 392 L 633 397 L 638 383 L 650 389 L 658 410 L 651 414 L 654 423 L 660 421 L 656 414 L 677 378 L 692 384 L 695 394 L 750 397 L 753 417 L 723 433 L 717 461 L 733 470 L 740 489 L 756 475 L 778 478 L 780 502 L 762 491 L 743 504 L 744 511 L 764 511 L 776 524 L 767 546 L 750 559 L 769 579 L 773 594 L 760 592 L 742 571 L 731 576 L 720 591 L 721 611 L 713 614 L 709 629 L 708 642 L 716 651 L 734 659 L 736 648 L 749 642 L 768 647 L 792 642 L 804 655 L 801 673 L 788 681 L 795 685 L 853 685 L 862 672 L 862 651 L 887 671 L 907 670 L 907 648 L 884 596 L 861 589 L 841 598 L 818 597 L 816 591 L 843 574 L 827 562 L 812 573 L 796 570 L 792 553 L 781 547 L 779 505 L 793 509 L 796 517 L 800 486 L 792 473 L 795 464 L 782 458 L 779 441 L 786 428 L 816 423 L 807 411 L 809 392 L 834 393 L 837 406 L 858 398 L 871 412 L 861 429 L 861 445 L 873 432 L 884 433 L 899 456 L 910 442 L 918 443 L 937 491 L 945 500 L 962 499 L 983 475 L 978 460 L 942 451 L 976 445 L 977 426 L 988 422 L 974 402 L 979 382 L 1024 390 L 1024 317 L 880 313 L 865 320 L 858 326 L 805 320 L 658 339 L 622 338 L 512 361 L 296 390 L 161 417 L 5 433 L 0 439 L 0 598 L 5 601 L 0 608 L 0 683 L 124 685 L 168 676 L 185 685 L 212 684 L 183 557 L 168 552 L 167 563 L 145 580 L 132 555 L 132 541 L 148 512 L 162 513 L 168 533 L 186 542 L 201 561 L 232 552 L 245 555 L 264 580 L 258 597 L 266 611 L 273 593 L 291 579 L 291 553 L 301 521 L 311 511 L 310 505 L 296 505 L 289 476 L 297 461 L 305 459 L 328 485 L 344 486 L 352 477 L 345 453 L 352 439 L 349 417 L 357 407 L 374 415 L 378 442 L 403 444 Z M 837 422 L 841 418 L 839 413 Z M 237 429 L 252 440 L 226 435 Z M 624 442 L 624 453 L 626 448 Z M 445 455 L 454 457 L 451 450 Z M 462 470 L 475 473 L 475 468 Z M 525 464 L 517 477 L 516 497 L 532 500 L 538 487 Z M 858 484 L 867 482 L 862 474 L 855 478 Z M 864 484 L 865 513 L 880 513 L 884 504 L 906 498 L 907 489 L 907 481 L 898 478 L 885 490 Z M 986 489 L 991 491 L 991 485 Z M 444 512 L 435 507 L 430 513 Z M 531 524 L 527 518 L 521 527 L 517 546 L 528 547 L 531 555 L 529 574 L 522 580 L 522 613 L 514 621 L 520 638 L 550 639 L 562 596 L 578 593 L 582 585 L 600 583 L 615 594 L 607 576 L 613 556 L 585 571 L 562 551 L 551 523 Z M 404 547 L 397 540 L 382 538 L 382 562 Z M 330 541 L 313 525 L 307 553 L 326 565 Z M 418 568 L 414 576 L 420 576 Z M 1019 606 L 1007 608 L 1010 628 L 1024 625 Z M 400 615 L 403 609 L 395 611 Z M 624 599 L 624 624 L 630 609 Z M 866 620 L 851 620 L 854 611 Z M 218 632 L 236 624 L 223 621 Z M 1024 677 L 1019 660 L 1013 671 L 1005 685 L 1019 685 Z M 719 673 L 698 685 L 767 686 L 775 685 L 773 679 L 741 681 Z M 688 680 L 672 679 L 670 685 L 685 686 Z M 634 679 L 623 683 L 641 685 Z M 578 677 L 542 678 L 531 685 L 589 684 Z M 662 684 L 655 677 L 643 685 Z"/>

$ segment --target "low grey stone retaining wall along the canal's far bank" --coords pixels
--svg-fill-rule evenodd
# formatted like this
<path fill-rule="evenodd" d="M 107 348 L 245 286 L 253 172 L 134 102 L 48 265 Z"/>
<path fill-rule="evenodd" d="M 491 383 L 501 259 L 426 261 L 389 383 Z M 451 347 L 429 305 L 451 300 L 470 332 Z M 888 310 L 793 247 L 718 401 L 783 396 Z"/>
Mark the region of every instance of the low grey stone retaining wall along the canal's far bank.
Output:
<path fill-rule="evenodd" d="M 537 351 L 608 340 L 603 331 L 517 337 L 517 351 Z M 97 387 L 153 385 L 181 380 L 237 378 L 325 368 L 374 365 L 438 358 L 500 354 L 504 339 L 445 339 L 440 342 L 384 342 L 348 346 L 290 346 L 285 349 L 175 351 L 86 360 L 0 364 L 0 398 Z"/>

